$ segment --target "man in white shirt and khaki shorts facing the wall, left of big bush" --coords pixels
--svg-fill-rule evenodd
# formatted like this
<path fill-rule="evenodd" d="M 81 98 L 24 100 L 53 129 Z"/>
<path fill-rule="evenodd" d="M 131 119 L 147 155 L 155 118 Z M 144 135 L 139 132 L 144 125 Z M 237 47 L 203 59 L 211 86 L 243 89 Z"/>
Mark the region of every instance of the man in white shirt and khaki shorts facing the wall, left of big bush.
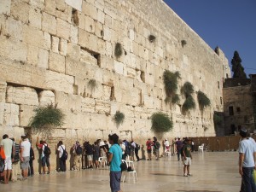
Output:
<path fill-rule="evenodd" d="M 28 175 L 31 143 L 28 141 L 28 138 L 26 136 L 22 136 L 21 139 L 22 142 L 20 143 L 20 167 L 24 180 L 27 179 Z"/>

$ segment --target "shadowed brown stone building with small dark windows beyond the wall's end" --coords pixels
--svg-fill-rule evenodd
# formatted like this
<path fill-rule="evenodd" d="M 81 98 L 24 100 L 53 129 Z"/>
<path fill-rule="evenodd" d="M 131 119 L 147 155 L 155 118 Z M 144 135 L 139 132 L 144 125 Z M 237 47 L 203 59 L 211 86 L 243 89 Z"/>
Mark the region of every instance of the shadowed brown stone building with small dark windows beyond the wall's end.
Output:
<path fill-rule="evenodd" d="M 255 130 L 255 75 L 250 79 L 225 79 L 225 134 L 236 134 L 241 128 Z"/>

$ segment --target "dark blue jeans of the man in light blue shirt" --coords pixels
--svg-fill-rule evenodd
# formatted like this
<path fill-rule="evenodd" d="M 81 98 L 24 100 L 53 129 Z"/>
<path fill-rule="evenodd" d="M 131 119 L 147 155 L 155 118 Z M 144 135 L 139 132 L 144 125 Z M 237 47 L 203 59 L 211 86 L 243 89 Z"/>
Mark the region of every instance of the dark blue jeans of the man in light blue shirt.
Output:
<path fill-rule="evenodd" d="M 253 180 L 253 170 L 254 167 L 242 167 L 242 181 L 244 183 L 244 188 L 246 192 L 255 192 L 255 183 Z"/>

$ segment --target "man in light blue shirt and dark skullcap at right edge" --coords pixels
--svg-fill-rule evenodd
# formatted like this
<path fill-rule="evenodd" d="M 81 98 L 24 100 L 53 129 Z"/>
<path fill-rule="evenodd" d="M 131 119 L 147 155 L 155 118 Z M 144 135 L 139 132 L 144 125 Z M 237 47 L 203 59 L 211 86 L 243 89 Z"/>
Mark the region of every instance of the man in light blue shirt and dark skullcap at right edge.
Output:
<path fill-rule="evenodd" d="M 242 177 L 242 182 L 247 192 L 256 191 L 253 180 L 253 170 L 256 162 L 256 146 L 252 140 L 247 138 L 247 130 L 240 131 L 241 142 L 239 143 L 239 173 Z"/>

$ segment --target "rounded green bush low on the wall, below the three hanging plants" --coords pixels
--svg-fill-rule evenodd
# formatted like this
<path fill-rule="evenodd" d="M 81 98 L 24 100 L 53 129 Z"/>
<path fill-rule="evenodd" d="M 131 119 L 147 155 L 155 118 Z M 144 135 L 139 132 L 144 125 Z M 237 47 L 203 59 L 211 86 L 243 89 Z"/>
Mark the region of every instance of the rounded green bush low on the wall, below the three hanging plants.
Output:
<path fill-rule="evenodd" d="M 172 119 L 166 113 L 153 113 L 151 116 L 151 130 L 154 133 L 165 133 L 172 131 Z"/>

